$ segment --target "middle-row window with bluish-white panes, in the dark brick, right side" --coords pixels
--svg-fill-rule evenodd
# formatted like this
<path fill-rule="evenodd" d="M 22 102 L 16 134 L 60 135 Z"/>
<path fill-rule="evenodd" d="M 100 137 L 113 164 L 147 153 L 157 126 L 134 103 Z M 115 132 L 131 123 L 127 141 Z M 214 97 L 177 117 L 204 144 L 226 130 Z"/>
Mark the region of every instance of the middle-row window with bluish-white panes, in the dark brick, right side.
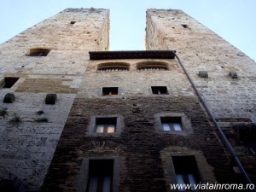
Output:
<path fill-rule="evenodd" d="M 183 131 L 181 117 L 160 117 L 164 131 Z"/>

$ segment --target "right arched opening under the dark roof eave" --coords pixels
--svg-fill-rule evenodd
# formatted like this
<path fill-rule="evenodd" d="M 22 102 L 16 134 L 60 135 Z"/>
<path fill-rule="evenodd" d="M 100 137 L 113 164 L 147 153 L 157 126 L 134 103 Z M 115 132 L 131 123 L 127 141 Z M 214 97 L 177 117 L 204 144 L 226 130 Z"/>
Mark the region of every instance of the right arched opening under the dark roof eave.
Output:
<path fill-rule="evenodd" d="M 137 71 L 168 71 L 169 67 L 166 62 L 160 61 L 143 61 L 137 63 Z"/>

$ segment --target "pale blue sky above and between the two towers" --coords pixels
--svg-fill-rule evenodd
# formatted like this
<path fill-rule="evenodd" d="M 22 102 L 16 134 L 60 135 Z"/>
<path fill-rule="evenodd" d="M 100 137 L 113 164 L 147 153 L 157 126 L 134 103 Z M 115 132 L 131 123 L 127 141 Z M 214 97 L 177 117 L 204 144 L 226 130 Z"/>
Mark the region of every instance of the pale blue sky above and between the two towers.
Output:
<path fill-rule="evenodd" d="M 110 9 L 110 50 L 145 49 L 147 9 L 181 9 L 256 61 L 255 0 L 0 0 L 0 44 L 67 8 Z"/>

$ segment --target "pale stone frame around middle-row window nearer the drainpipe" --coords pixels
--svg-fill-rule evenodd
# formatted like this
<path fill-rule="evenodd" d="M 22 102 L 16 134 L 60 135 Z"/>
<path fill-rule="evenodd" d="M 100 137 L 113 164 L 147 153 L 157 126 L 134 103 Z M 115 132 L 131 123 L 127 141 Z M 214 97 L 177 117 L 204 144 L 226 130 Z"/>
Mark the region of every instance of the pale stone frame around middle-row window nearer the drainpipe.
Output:
<path fill-rule="evenodd" d="M 161 119 L 160 119 L 161 117 L 166 117 L 166 118 L 167 117 L 171 117 L 171 118 L 179 117 L 179 118 L 181 118 L 183 130 L 182 131 L 173 131 L 173 130 L 164 131 L 164 129 L 162 127 Z M 155 128 L 156 128 L 156 131 L 158 131 L 158 132 L 173 134 L 173 135 L 181 135 L 181 136 L 187 136 L 187 135 L 193 133 L 193 129 L 192 129 L 190 120 L 185 115 L 185 113 L 157 113 L 154 115 L 154 118 L 155 118 Z"/>

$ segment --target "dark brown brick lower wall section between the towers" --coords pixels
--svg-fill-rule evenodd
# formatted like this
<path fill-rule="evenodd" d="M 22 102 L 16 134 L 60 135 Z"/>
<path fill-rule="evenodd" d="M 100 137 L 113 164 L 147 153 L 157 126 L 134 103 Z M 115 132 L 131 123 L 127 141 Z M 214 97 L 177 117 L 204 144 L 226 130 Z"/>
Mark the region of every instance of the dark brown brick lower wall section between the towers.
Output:
<path fill-rule="evenodd" d="M 193 132 L 186 136 L 157 131 L 155 114 L 184 113 Z M 90 119 L 96 115 L 119 114 L 123 117 L 118 135 L 89 135 Z M 201 177 L 218 183 L 242 183 L 241 174 L 233 171 L 230 155 L 218 138 L 215 127 L 195 96 L 129 97 L 107 99 L 77 98 L 69 113 L 55 150 L 42 191 L 77 191 L 82 162 L 93 157 L 119 157 L 119 191 L 165 192 L 165 166 L 160 151 L 187 148 L 202 154 L 211 172 L 198 163 Z M 211 150 L 209 150 L 211 148 Z M 183 153 L 183 152 L 182 152 Z M 172 154 L 171 154 L 172 155 Z M 173 154 L 175 155 L 175 154 Z M 81 182 L 81 181 L 80 181 Z M 84 181 L 86 182 L 86 181 Z"/>

